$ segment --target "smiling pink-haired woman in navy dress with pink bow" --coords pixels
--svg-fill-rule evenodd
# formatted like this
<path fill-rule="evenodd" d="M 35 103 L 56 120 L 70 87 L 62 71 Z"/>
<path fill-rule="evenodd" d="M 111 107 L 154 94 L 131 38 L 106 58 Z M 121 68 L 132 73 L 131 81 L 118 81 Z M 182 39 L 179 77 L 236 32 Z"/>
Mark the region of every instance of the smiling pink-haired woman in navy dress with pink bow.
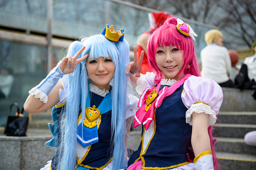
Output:
<path fill-rule="evenodd" d="M 137 80 L 142 95 L 135 126 L 143 124 L 142 141 L 127 170 L 218 169 L 212 125 L 223 93 L 216 82 L 201 77 L 194 36 L 176 18 L 151 35 L 147 52 L 154 73 Z"/>

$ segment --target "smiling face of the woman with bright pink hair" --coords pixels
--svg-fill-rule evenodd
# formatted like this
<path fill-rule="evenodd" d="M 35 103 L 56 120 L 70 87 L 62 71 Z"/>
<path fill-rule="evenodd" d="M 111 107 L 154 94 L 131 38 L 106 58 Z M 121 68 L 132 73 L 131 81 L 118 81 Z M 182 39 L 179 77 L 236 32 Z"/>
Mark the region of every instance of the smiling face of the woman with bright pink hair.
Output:
<path fill-rule="evenodd" d="M 183 67 L 183 51 L 176 46 L 164 46 L 156 49 L 156 64 L 165 79 L 179 80 L 184 72 L 178 75 Z"/>

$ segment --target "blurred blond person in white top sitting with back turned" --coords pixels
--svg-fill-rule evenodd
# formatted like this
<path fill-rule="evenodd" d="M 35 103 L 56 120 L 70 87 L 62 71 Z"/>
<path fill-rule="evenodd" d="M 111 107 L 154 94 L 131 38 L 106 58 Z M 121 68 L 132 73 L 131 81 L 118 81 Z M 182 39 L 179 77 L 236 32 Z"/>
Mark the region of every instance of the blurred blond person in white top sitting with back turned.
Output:
<path fill-rule="evenodd" d="M 205 34 L 207 46 L 201 51 L 202 76 L 213 79 L 221 87 L 234 87 L 230 79 L 231 61 L 223 47 L 223 34 L 216 29 Z"/>

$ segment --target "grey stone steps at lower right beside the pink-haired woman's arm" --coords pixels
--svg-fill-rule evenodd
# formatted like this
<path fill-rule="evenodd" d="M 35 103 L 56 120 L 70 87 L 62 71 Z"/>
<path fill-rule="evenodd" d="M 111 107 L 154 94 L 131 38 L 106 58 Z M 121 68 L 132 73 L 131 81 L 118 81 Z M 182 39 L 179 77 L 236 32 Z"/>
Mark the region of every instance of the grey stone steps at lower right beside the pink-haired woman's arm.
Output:
<path fill-rule="evenodd" d="M 244 142 L 247 132 L 256 130 L 256 112 L 220 112 L 214 124 L 217 158 L 225 169 L 256 169 L 256 147 Z"/>

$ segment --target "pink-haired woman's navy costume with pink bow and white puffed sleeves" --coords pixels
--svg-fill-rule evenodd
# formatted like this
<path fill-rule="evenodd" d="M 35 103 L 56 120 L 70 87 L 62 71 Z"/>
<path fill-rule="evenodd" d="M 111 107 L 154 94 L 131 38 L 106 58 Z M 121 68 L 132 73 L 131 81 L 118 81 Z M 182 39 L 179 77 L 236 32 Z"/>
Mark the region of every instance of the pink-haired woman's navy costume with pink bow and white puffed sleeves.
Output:
<path fill-rule="evenodd" d="M 145 84 L 153 82 L 147 76 L 141 78 L 149 81 L 139 81 L 137 89 L 145 89 Z M 143 85 L 142 82 L 147 83 Z M 135 126 L 143 124 L 142 142 L 132 154 L 129 167 L 196 169 L 195 164 L 197 166 L 197 162 L 203 160 L 197 156 L 194 164 L 187 158 L 193 124 L 191 116 L 193 112 L 205 112 L 209 114 L 208 126 L 213 125 L 223 100 L 221 87 L 206 77 L 188 74 L 178 81 L 162 79 L 158 86 L 152 85 L 146 88 L 139 100 Z M 147 103 L 150 100 L 153 102 Z M 211 151 L 204 151 L 200 156 L 203 159 L 210 156 L 212 160 Z M 201 167 L 204 169 L 203 165 Z"/>

